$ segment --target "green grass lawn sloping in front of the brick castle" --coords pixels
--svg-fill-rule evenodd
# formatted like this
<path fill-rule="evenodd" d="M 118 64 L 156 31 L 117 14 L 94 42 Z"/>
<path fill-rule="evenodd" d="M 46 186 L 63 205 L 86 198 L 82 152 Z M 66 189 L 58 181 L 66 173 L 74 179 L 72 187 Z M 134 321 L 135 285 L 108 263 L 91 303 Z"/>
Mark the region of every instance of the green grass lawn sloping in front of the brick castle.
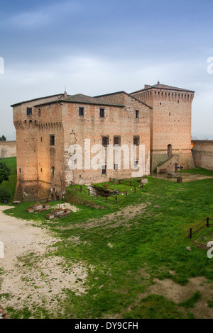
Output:
<path fill-rule="evenodd" d="M 200 170 L 200 173 L 209 171 Z M 114 187 L 116 185 L 113 184 Z M 193 317 L 185 309 L 197 302 L 199 294 L 182 304 L 175 304 L 159 295 L 150 295 L 140 301 L 137 299 L 153 284 L 154 278 L 170 278 L 180 285 L 197 276 L 213 281 L 213 259 L 207 258 L 207 252 L 197 248 L 193 242 L 195 239 L 202 242 L 203 236 L 211 239 L 213 226 L 197 232 L 193 239 L 185 239 L 183 235 L 185 230 L 207 216 L 213 218 L 213 179 L 178 184 L 148 177 L 148 184 L 143 190 L 117 205 L 102 197 L 88 196 L 86 191 L 74 188 L 69 188 L 69 191 L 71 194 L 67 198 L 73 200 L 79 210 L 65 219 L 46 220 L 45 213 L 28 215 L 25 210 L 30 203 L 6 211 L 7 214 L 33 219 L 43 227 L 50 227 L 54 235 L 61 239 L 55 244 L 54 255 L 63 256 L 67 264 L 80 261 L 87 267 L 93 267 L 88 273 L 87 293 L 75 295 L 66 290 L 66 298 L 61 300 L 63 311 L 58 317 Z M 122 215 L 126 207 L 131 205 L 133 210 L 142 203 L 146 204 L 146 208 L 141 208 L 128 222 L 124 222 L 128 218 Z M 89 220 L 99 222 L 111 213 L 117 213 L 117 219 L 110 221 L 111 218 L 108 218 L 112 222 L 110 227 L 101 223 L 83 227 Z M 73 237 L 79 237 L 78 244 L 73 243 Z M 189 246 L 192 251 L 186 250 Z M 12 317 L 21 316 L 14 309 L 10 313 Z M 26 313 L 26 317 L 40 316 L 38 313 Z"/>

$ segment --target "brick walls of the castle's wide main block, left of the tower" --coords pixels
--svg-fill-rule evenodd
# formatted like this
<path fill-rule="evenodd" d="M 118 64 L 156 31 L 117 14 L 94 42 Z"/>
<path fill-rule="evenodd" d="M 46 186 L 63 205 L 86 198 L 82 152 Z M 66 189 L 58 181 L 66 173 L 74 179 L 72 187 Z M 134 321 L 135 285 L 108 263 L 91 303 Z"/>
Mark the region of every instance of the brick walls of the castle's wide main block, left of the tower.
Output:
<path fill-rule="evenodd" d="M 133 136 L 137 135 L 145 151 L 141 153 L 143 154 L 141 174 L 137 173 L 135 176 L 149 174 L 149 108 L 128 95 L 121 94 L 119 98 L 126 106 L 102 106 L 102 104 L 99 106 L 62 101 L 40 106 L 35 106 L 40 101 L 32 101 L 13 106 L 17 137 L 16 200 L 34 201 L 38 196 L 44 201 L 58 198 L 70 181 L 91 184 L 108 181 L 110 177 L 133 176 L 131 169 L 124 170 L 122 154 L 121 170 L 107 169 L 107 174 L 102 174 L 102 169 L 84 167 L 84 162 L 87 161 L 84 153 L 86 139 L 90 140 L 92 147 L 97 144 L 102 145 L 103 136 L 109 137 L 109 145 L 113 145 L 114 136 L 120 136 L 121 145 L 130 148 L 133 145 Z M 32 115 L 26 115 L 27 107 L 32 107 Z M 84 107 L 83 117 L 79 115 L 80 107 Z M 104 108 L 104 118 L 99 116 L 100 108 Z M 136 109 L 138 118 L 135 115 Z M 55 136 L 54 145 L 50 145 L 50 135 Z M 83 165 L 80 170 L 70 170 L 68 166 L 70 145 L 82 147 Z M 94 152 L 95 154 L 97 152 Z M 139 157 L 138 149 L 136 158 L 139 160 Z"/>

